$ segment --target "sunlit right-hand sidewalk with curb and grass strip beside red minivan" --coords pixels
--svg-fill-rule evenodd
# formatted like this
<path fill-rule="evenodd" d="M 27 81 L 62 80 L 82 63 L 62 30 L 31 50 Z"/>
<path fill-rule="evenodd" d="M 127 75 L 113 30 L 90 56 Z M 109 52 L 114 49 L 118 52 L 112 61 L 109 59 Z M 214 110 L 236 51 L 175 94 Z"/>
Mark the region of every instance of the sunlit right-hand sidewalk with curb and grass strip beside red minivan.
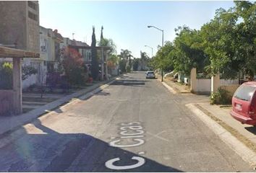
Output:
<path fill-rule="evenodd" d="M 163 86 L 166 86 L 166 83 Z M 168 84 L 166 88 L 171 88 L 171 85 Z M 208 102 L 200 102 L 197 97 L 200 98 L 200 96 L 193 94 L 194 100 L 186 105 L 187 108 L 202 120 L 210 130 L 213 130 L 236 154 L 241 156 L 244 161 L 249 162 L 251 166 L 256 168 L 256 128 L 252 125 L 243 125 L 234 120 L 229 115 L 231 107 L 210 105 L 210 100 Z"/>

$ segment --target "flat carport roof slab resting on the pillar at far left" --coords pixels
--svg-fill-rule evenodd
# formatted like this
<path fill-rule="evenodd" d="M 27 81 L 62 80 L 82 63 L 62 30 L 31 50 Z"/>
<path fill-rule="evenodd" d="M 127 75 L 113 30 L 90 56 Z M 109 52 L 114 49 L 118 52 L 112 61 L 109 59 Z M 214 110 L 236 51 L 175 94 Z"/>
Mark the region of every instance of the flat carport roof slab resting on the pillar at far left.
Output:
<path fill-rule="evenodd" d="M 0 58 L 40 58 L 40 53 L 0 46 Z"/>

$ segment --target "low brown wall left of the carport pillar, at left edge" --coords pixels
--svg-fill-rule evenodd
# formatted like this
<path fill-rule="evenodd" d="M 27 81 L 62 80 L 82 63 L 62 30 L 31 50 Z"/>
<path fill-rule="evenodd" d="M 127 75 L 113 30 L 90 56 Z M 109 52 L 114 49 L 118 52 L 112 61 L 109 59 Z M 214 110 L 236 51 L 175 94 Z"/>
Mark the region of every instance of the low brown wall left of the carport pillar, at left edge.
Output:
<path fill-rule="evenodd" d="M 13 110 L 12 90 L 0 90 L 0 115 L 10 115 Z"/>

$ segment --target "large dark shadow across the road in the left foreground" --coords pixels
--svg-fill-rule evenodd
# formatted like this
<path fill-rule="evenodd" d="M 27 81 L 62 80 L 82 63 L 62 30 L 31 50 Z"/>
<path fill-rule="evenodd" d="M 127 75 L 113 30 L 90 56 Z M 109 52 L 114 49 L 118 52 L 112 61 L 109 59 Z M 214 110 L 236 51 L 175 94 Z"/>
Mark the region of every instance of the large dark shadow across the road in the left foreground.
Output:
<path fill-rule="evenodd" d="M 0 148 L 0 172 L 181 172 L 85 133 L 58 133 L 40 120 L 32 125 L 34 134 L 20 128 L 19 138 Z M 133 156 L 142 157 L 145 164 L 124 170 L 105 166 L 117 157 L 116 166 L 137 164 Z"/>

